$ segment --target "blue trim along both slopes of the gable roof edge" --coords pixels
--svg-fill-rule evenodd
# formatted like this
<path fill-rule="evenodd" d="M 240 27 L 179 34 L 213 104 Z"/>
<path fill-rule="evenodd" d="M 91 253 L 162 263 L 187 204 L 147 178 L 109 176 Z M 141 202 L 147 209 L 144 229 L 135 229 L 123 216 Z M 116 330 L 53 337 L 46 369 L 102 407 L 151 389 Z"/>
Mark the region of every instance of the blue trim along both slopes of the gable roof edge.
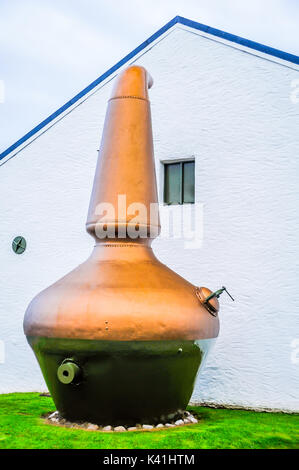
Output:
<path fill-rule="evenodd" d="M 221 31 L 219 29 L 212 28 L 210 26 L 206 26 L 204 24 L 198 23 L 196 21 L 188 20 L 187 18 L 184 18 L 182 16 L 176 16 L 173 18 L 171 21 L 166 23 L 162 28 L 160 28 L 156 33 L 154 33 L 152 36 L 150 36 L 146 41 L 144 41 L 142 44 L 140 44 L 136 49 L 134 49 L 132 52 L 127 54 L 123 59 L 121 59 L 119 62 L 117 62 L 115 65 L 113 65 L 110 69 L 108 69 L 105 73 L 103 73 L 100 77 L 98 77 L 96 80 L 94 80 L 90 85 L 88 85 L 86 88 L 84 88 L 80 93 L 78 93 L 76 96 L 74 96 L 71 100 L 69 100 L 67 103 L 65 103 L 61 108 L 57 109 L 53 114 L 48 116 L 44 121 L 42 121 L 40 124 L 38 124 L 36 127 L 34 127 L 30 132 L 27 132 L 23 137 L 21 137 L 19 140 L 17 140 L 14 144 L 12 144 L 10 147 L 8 147 L 6 150 L 4 150 L 0 154 L 0 160 L 5 158 L 9 153 L 11 153 L 13 150 L 15 150 L 17 147 L 22 145 L 26 140 L 30 139 L 34 134 L 36 134 L 38 131 L 40 131 L 43 127 L 47 126 L 53 119 L 58 117 L 60 114 L 62 114 L 64 111 L 66 111 L 70 106 L 72 106 L 74 103 L 76 103 L 80 98 L 82 98 L 84 95 L 89 93 L 93 88 L 95 88 L 99 83 L 104 81 L 109 75 L 111 75 L 113 72 L 115 72 L 117 69 L 119 69 L 122 65 L 124 65 L 126 62 L 128 62 L 130 59 L 132 59 L 136 54 L 141 52 L 143 49 L 145 49 L 149 44 L 151 44 L 153 41 L 155 41 L 157 38 L 159 38 L 162 34 L 164 34 L 166 31 L 168 31 L 172 26 L 174 26 L 176 23 L 183 24 L 185 26 L 189 26 L 190 28 L 197 29 L 199 31 L 203 31 L 205 33 L 211 34 L 213 36 L 226 39 L 227 41 L 235 42 L 237 44 L 240 44 L 242 46 L 249 47 L 250 49 L 254 49 L 259 52 L 263 52 L 265 54 L 272 55 L 274 57 L 278 57 L 279 59 L 286 60 L 288 62 L 292 62 L 294 64 L 299 64 L 299 56 L 289 54 L 287 52 L 280 51 L 278 49 L 274 49 L 272 47 L 265 46 L 263 44 L 259 44 L 258 42 L 250 41 L 249 39 L 244 39 L 239 36 L 235 36 L 234 34 L 226 33 L 224 31 Z"/>

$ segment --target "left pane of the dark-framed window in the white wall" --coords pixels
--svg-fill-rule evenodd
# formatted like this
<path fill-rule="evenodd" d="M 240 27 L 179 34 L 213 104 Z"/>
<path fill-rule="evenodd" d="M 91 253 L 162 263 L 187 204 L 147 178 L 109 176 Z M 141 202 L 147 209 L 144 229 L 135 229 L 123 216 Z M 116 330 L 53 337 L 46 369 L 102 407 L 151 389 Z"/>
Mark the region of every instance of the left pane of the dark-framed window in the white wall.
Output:
<path fill-rule="evenodd" d="M 182 164 L 165 165 L 164 202 L 181 204 L 182 202 Z"/>

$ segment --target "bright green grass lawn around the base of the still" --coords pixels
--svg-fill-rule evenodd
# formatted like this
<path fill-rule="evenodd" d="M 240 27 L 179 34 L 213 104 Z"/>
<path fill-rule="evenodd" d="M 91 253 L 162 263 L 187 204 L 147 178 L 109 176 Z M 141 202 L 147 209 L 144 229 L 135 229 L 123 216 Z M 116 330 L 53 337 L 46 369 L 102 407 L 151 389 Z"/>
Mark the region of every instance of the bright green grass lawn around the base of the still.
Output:
<path fill-rule="evenodd" d="M 47 424 L 55 411 L 38 393 L 0 395 L 1 449 L 294 449 L 299 415 L 190 406 L 198 424 L 167 430 L 100 432 Z"/>

